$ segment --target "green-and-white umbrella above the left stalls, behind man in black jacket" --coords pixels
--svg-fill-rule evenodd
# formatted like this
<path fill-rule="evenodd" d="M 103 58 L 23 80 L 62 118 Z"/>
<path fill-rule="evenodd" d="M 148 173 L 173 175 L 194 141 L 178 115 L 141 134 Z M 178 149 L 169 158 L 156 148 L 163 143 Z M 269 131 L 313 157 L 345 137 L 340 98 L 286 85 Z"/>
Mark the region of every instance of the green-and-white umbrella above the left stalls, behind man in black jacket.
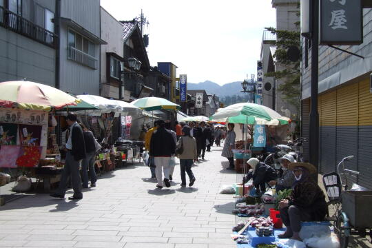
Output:
<path fill-rule="evenodd" d="M 180 105 L 160 97 L 143 97 L 133 101 L 132 104 L 146 111 L 152 110 L 179 110 Z"/>

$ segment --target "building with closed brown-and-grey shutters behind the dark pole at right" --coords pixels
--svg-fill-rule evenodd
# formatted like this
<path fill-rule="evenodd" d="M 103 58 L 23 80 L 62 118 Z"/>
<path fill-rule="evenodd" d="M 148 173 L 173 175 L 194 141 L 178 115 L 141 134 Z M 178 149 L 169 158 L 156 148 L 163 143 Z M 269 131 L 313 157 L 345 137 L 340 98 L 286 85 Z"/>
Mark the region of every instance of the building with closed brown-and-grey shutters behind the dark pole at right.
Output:
<path fill-rule="evenodd" d="M 370 2 L 369 2 L 370 4 Z M 360 172 L 358 184 L 372 187 L 372 9 L 363 10 L 364 42 L 340 48 L 364 56 L 364 59 L 329 48 L 319 47 L 319 170 L 334 172 L 343 157 L 354 155 L 347 162 L 349 169 Z M 302 38 L 302 136 L 309 138 L 311 94 L 311 49 Z M 304 144 L 308 158 L 308 144 Z"/>

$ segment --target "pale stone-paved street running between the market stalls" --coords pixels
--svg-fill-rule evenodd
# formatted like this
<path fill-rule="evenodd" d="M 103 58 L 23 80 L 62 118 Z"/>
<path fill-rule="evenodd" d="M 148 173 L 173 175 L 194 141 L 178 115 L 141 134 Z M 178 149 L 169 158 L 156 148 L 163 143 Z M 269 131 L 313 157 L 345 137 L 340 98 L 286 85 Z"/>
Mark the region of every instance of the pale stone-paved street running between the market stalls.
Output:
<path fill-rule="evenodd" d="M 180 187 L 176 165 L 169 189 L 156 189 L 149 168 L 132 165 L 105 174 L 83 200 L 25 196 L 0 207 L 0 247 L 229 248 L 235 216 L 221 185 L 236 181 L 222 169 L 222 148 L 193 168 L 194 187 Z M 188 183 L 188 182 L 187 182 Z"/>

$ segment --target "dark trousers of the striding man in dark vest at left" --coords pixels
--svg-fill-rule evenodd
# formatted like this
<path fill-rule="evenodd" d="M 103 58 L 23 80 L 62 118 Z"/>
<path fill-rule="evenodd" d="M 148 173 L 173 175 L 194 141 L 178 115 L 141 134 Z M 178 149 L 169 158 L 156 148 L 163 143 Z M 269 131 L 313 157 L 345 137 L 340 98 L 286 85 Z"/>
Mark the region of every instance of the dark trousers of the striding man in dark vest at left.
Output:
<path fill-rule="evenodd" d="M 76 161 L 71 152 L 66 153 L 65 167 L 63 167 L 61 174 L 61 181 L 56 190 L 56 194 L 64 196 L 67 190 L 68 178 L 71 176 L 72 189 L 74 189 L 74 196 L 77 198 L 83 197 L 81 193 L 81 178 L 79 173 L 80 163 Z"/>

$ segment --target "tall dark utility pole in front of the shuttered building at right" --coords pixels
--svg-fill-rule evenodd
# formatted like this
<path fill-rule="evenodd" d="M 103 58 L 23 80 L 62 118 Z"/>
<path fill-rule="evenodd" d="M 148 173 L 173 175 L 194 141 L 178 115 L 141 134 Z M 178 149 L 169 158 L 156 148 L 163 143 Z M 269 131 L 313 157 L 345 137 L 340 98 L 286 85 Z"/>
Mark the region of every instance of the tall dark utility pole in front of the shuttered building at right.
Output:
<path fill-rule="evenodd" d="M 318 37 L 319 1 L 311 1 L 311 110 L 309 116 L 309 162 L 316 167 L 317 172 L 319 166 Z M 318 177 L 318 173 L 316 175 Z"/>

